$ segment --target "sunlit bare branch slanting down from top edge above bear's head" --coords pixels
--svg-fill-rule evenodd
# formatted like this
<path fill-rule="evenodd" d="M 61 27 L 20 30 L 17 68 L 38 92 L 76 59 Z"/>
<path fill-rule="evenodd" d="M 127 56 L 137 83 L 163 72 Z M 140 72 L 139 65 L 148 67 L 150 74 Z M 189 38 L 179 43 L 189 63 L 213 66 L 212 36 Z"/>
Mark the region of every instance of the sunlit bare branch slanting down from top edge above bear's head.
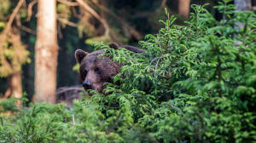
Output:
<path fill-rule="evenodd" d="M 97 20 L 99 20 L 103 27 L 105 28 L 105 33 L 104 35 L 105 36 L 108 36 L 109 35 L 109 26 L 107 24 L 107 22 L 102 19 L 102 17 L 96 13 L 96 11 L 92 8 L 90 8 L 90 6 L 87 4 L 87 3 L 84 3 L 83 0 L 76 0 L 82 7 L 84 7 L 84 9 L 86 9 L 90 14 L 92 14 Z"/>

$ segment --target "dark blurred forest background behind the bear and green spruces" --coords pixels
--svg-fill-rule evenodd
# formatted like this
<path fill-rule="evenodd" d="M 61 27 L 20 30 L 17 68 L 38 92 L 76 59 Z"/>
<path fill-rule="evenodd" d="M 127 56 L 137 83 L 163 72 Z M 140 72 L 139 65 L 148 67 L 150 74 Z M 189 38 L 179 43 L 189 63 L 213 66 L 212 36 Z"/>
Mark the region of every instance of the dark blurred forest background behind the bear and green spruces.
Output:
<path fill-rule="evenodd" d="M 3 100 L 11 94 L 20 98 L 23 93 L 30 102 L 35 89 L 54 83 L 42 80 L 47 76 L 44 72 L 38 73 L 40 78 L 35 81 L 35 47 L 37 36 L 41 34 L 37 30 L 40 25 L 39 2 L 0 0 L 0 98 Z M 146 34 L 154 34 L 160 29 L 158 21 L 166 17 L 164 8 L 177 17 L 176 25 L 183 25 L 192 11 L 190 5 L 204 3 L 209 3 L 206 9 L 217 20 L 222 18 L 213 9 L 218 0 L 57 0 L 54 3 L 57 70 L 56 77 L 49 77 L 56 80 L 52 85 L 53 92 L 81 83 L 79 73 L 74 70 L 76 60 L 73 54 L 76 49 L 91 52 L 94 50 L 91 44 L 95 41 L 138 46 L 138 41 Z M 255 4 L 250 2 L 250 7 Z M 41 22 L 47 23 L 48 20 Z M 45 37 L 44 34 L 41 37 Z M 41 43 L 47 45 L 49 41 L 43 39 Z M 48 60 L 55 62 L 54 57 Z"/>

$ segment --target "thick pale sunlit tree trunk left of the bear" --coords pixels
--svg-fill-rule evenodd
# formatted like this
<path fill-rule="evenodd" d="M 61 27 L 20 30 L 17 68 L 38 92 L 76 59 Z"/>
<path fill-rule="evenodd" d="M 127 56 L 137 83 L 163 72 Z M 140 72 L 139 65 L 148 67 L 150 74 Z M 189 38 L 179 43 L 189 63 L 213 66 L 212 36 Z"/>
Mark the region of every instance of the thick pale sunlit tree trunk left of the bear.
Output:
<path fill-rule="evenodd" d="M 35 49 L 35 101 L 55 103 L 58 56 L 55 0 L 38 0 Z"/>

